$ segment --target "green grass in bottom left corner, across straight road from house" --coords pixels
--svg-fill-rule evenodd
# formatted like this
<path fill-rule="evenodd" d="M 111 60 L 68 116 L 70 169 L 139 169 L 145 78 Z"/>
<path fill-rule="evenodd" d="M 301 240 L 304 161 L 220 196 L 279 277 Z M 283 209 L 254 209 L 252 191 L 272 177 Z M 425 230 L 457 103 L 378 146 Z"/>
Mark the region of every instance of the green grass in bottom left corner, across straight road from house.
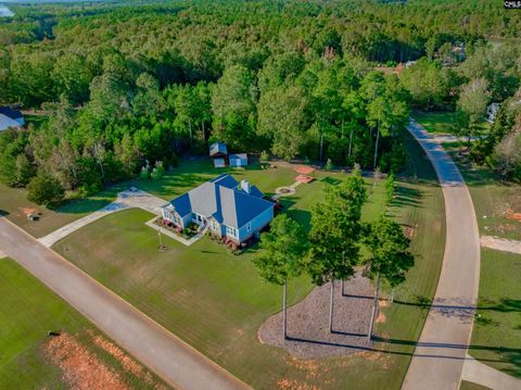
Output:
<path fill-rule="evenodd" d="M 87 330 L 100 332 L 92 324 L 10 259 L 0 259 L 0 388 L 69 387 L 43 352 L 49 330 L 74 336 L 128 386 L 151 387 L 93 343 Z"/>

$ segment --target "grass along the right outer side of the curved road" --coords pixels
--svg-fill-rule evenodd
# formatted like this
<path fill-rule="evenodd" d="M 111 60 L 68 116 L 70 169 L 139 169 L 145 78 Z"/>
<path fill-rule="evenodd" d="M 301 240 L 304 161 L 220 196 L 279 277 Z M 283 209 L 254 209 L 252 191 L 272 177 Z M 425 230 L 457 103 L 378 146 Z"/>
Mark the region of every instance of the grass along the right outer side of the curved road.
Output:
<path fill-rule="evenodd" d="M 437 114 L 437 126 L 444 126 L 450 117 L 452 113 L 445 118 Z M 458 146 L 447 147 L 469 187 L 480 235 L 521 240 L 521 222 L 505 217 L 511 212 L 521 212 L 521 186 L 501 181 L 487 168 L 471 166 L 465 155 L 458 155 Z M 482 249 L 479 317 L 469 353 L 517 377 L 521 377 L 520 280 L 521 255 Z"/>

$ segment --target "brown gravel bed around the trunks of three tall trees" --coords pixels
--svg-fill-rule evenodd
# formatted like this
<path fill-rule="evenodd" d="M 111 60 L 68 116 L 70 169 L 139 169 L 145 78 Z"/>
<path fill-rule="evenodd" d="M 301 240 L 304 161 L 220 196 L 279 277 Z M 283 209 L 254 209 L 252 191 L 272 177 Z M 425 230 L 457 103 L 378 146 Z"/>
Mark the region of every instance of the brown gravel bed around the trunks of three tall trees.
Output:
<path fill-rule="evenodd" d="M 370 281 L 356 274 L 345 282 L 344 295 L 340 280 L 335 281 L 333 332 L 329 331 L 330 294 L 331 285 L 327 284 L 288 309 L 288 340 L 282 336 L 282 312 L 269 317 L 258 330 L 260 342 L 284 348 L 301 358 L 351 355 L 370 349 L 373 343 L 367 340 L 373 294 Z"/>

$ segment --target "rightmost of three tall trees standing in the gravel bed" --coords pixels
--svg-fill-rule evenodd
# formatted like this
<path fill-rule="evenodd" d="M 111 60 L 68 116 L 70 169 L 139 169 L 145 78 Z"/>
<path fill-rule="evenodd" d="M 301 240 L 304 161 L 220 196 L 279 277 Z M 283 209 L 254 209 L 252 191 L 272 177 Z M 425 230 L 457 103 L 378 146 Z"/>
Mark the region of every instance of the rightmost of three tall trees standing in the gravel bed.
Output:
<path fill-rule="evenodd" d="M 415 264 L 409 252 L 410 240 L 404 235 L 398 223 L 381 216 L 368 225 L 365 243 L 370 256 L 366 260 L 366 272 L 369 277 L 377 279 L 377 290 L 369 324 L 369 340 L 372 337 L 374 316 L 380 293 L 380 279 L 383 278 L 392 287 L 405 280 L 407 271 Z"/>

